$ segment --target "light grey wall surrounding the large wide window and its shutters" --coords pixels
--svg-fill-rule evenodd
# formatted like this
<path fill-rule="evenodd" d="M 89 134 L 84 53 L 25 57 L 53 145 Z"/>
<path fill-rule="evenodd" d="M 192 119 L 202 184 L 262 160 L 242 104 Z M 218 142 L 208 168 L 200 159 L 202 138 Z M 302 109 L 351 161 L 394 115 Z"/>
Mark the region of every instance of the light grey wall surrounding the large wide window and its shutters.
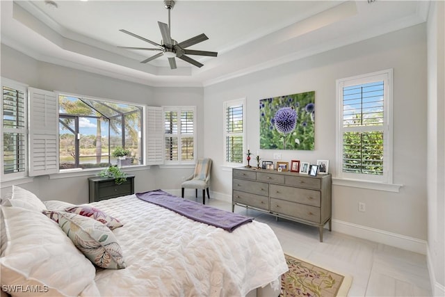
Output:
<path fill-rule="evenodd" d="M 6 45 L 1 45 L 1 76 L 27 83 L 34 88 L 58 90 L 76 95 L 115 99 L 149 106 L 197 106 L 197 156 L 203 156 L 204 144 L 200 137 L 204 126 L 202 88 L 154 88 L 111 79 L 99 74 L 35 61 Z M 193 166 L 171 169 L 159 168 L 159 166 L 142 167 L 129 173 L 136 175 L 136 192 L 163 188 L 177 190 L 179 193 L 181 178 L 191 175 Z M 94 173 L 89 176 L 94 176 Z M 75 204 L 88 202 L 88 176 L 54 177 L 35 177 L 33 183 L 20 184 L 20 186 L 33 191 L 42 200 L 63 200 Z M 8 191 L 10 188 L 1 188 L 2 195 Z"/>

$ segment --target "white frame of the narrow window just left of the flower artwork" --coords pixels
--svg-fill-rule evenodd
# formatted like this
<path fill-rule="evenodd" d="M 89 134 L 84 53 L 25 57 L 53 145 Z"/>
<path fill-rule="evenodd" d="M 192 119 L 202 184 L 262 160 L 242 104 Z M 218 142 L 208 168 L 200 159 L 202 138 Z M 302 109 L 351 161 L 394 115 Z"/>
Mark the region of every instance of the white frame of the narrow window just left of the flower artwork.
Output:
<path fill-rule="evenodd" d="M 223 102 L 223 118 L 224 118 L 224 133 L 223 133 L 223 137 L 224 137 L 224 152 L 223 152 L 223 160 L 224 160 L 224 166 L 225 167 L 239 167 L 239 166 L 243 166 L 245 165 L 245 158 L 244 158 L 244 152 L 246 151 L 246 147 L 247 147 L 247 133 L 246 133 L 246 119 L 247 119 L 247 112 L 246 112 L 246 104 L 245 104 L 245 98 L 241 98 L 241 99 L 234 99 L 234 100 L 228 100 Z M 242 133 L 229 133 L 227 131 L 227 109 L 229 109 L 232 106 L 239 106 L 241 105 L 243 107 L 243 132 Z M 230 162 L 227 160 L 227 136 L 230 135 L 234 135 L 234 136 L 239 136 L 241 134 L 241 136 L 243 137 L 243 154 L 242 154 L 242 160 L 241 163 L 236 163 L 236 162 Z"/>

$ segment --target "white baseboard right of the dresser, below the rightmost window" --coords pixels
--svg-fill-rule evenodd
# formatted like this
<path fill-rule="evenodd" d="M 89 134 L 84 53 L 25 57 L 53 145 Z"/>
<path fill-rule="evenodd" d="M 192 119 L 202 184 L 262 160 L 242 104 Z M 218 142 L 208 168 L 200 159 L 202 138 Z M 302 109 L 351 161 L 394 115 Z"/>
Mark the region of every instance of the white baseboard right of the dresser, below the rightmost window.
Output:
<path fill-rule="evenodd" d="M 410 236 L 391 233 L 336 219 L 332 219 L 332 230 L 362 239 L 369 239 L 378 243 L 384 243 L 388 246 L 394 246 L 403 250 L 418 252 L 422 255 L 426 255 L 427 253 L 427 242 Z"/>

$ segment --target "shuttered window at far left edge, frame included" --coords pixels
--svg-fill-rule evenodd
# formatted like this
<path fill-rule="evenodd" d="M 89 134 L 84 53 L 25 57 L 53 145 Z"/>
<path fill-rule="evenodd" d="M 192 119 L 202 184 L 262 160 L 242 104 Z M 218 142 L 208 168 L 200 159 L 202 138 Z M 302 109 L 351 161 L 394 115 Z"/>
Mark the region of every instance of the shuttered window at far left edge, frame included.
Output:
<path fill-rule="evenodd" d="M 2 179 L 26 177 L 27 87 L 2 78 L 1 168 Z"/>

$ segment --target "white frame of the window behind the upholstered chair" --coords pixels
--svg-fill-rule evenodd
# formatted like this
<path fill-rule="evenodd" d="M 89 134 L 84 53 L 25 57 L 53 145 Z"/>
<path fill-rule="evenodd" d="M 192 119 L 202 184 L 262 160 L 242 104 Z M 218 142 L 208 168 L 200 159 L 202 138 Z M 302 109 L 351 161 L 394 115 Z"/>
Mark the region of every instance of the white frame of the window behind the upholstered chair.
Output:
<path fill-rule="evenodd" d="M 177 112 L 177 134 L 168 134 L 165 133 L 165 113 L 170 111 Z M 193 112 L 193 134 L 182 134 L 181 133 L 181 113 L 183 111 L 192 111 Z M 195 164 L 197 160 L 197 109 L 196 106 L 162 106 L 162 116 L 163 116 L 163 156 L 164 156 L 164 165 L 188 165 Z M 193 136 L 193 160 L 182 160 L 181 158 L 181 139 L 184 137 Z M 165 150 L 166 143 L 165 138 L 172 137 L 177 138 L 177 146 L 178 146 L 178 159 L 177 160 L 168 160 L 165 158 Z"/>

